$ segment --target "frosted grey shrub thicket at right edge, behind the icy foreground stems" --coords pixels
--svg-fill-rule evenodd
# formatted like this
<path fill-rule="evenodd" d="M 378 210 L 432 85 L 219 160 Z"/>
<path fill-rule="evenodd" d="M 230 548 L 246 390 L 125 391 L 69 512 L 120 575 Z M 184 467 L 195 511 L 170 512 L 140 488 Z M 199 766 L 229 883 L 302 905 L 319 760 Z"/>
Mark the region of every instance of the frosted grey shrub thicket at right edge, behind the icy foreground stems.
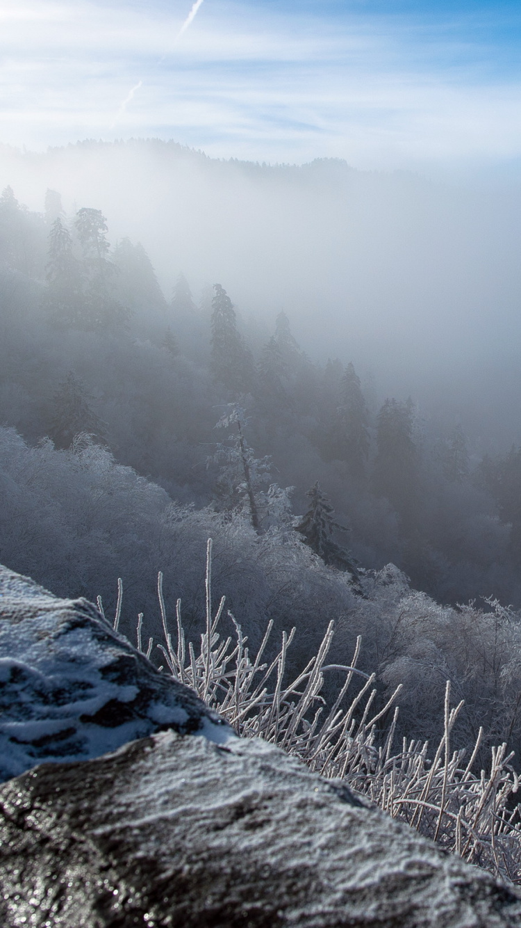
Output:
<path fill-rule="evenodd" d="M 496 599 L 483 607 L 467 603 L 440 606 L 410 589 L 394 569 L 366 583 L 368 597 L 358 605 L 365 661 L 378 679 L 400 693 L 400 732 L 422 739 L 443 733 L 444 684 L 463 701 L 452 741 L 464 748 L 485 734 L 477 761 L 488 763 L 492 744 L 506 741 L 521 755 L 521 622 Z"/>

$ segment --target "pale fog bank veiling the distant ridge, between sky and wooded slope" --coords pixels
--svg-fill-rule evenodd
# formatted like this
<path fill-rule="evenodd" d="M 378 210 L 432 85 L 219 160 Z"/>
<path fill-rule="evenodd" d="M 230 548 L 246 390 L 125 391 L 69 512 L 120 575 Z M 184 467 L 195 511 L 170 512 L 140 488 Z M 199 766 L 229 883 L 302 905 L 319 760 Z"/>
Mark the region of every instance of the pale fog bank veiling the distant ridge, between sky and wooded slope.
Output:
<path fill-rule="evenodd" d="M 272 329 L 284 307 L 313 359 L 352 360 L 378 399 L 411 393 L 484 450 L 521 440 L 515 173 L 500 185 L 267 166 L 148 140 L 2 148 L 0 183 L 32 210 L 47 187 L 68 213 L 101 209 L 112 242 L 142 242 L 167 297 L 181 271 L 196 294 L 218 280 L 245 325 Z"/>

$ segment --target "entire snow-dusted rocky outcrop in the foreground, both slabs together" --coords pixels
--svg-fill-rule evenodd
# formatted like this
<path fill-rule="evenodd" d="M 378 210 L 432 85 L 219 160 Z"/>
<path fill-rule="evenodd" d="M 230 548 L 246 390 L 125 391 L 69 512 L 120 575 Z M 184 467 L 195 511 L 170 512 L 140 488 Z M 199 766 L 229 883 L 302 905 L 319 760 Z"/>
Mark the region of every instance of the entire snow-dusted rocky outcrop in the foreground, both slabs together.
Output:
<path fill-rule="evenodd" d="M 3 928 L 521 928 L 513 891 L 236 738 L 85 600 L 3 570 L 0 654 Z"/>

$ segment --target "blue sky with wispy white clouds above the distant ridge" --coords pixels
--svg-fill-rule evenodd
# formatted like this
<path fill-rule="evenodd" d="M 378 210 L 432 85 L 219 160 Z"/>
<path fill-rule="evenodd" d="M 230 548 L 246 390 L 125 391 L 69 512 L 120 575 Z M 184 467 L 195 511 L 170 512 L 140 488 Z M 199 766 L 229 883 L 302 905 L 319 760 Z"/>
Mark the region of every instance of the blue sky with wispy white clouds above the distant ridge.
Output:
<path fill-rule="evenodd" d="M 3 0 L 0 141 L 359 168 L 521 157 L 521 4 Z"/>

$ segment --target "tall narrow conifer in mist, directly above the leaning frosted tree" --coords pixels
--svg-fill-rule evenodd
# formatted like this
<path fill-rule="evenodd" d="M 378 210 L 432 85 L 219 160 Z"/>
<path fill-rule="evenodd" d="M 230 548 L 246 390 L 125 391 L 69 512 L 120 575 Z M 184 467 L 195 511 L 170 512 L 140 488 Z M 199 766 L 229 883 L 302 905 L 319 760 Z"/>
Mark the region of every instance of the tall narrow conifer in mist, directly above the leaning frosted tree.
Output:
<path fill-rule="evenodd" d="M 233 393 L 251 389 L 253 361 L 237 331 L 234 304 L 221 286 L 215 284 L 211 313 L 211 368 L 215 380 Z"/>

